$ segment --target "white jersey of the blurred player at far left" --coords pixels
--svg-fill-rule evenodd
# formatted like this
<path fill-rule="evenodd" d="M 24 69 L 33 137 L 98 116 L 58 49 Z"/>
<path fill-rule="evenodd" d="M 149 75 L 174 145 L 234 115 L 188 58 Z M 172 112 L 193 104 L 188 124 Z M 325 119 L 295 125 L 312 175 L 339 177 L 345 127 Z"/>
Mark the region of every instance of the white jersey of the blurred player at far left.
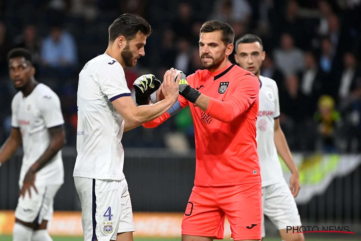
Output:
<path fill-rule="evenodd" d="M 48 129 L 64 124 L 60 99 L 48 86 L 39 83 L 30 95 L 24 97 L 19 91 L 12 104 L 13 128 L 19 128 L 22 137 L 24 156 L 21 165 L 19 185 L 22 186 L 25 174 L 45 150 L 51 136 Z M 63 184 L 64 166 L 61 150 L 36 173 L 35 185 Z"/>

